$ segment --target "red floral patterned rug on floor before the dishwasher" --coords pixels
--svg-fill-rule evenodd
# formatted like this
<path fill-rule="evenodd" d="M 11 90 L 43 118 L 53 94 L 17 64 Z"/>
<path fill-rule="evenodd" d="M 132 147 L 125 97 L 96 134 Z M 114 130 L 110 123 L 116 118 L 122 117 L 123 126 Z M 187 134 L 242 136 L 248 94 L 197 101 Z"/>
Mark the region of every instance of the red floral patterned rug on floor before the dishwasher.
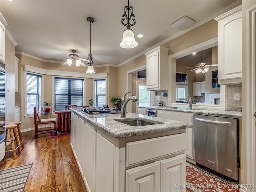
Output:
<path fill-rule="evenodd" d="M 238 192 L 238 183 L 224 180 L 187 162 L 187 184 L 190 192 Z"/>

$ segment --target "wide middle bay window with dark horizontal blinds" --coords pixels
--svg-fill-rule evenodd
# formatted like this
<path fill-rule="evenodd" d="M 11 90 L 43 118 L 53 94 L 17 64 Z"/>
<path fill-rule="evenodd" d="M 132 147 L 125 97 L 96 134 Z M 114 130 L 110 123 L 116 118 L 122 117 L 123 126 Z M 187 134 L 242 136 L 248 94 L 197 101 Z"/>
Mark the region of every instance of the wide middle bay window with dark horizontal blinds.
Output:
<path fill-rule="evenodd" d="M 55 110 L 65 110 L 66 105 L 84 105 L 84 80 L 58 78 L 54 80 Z"/>

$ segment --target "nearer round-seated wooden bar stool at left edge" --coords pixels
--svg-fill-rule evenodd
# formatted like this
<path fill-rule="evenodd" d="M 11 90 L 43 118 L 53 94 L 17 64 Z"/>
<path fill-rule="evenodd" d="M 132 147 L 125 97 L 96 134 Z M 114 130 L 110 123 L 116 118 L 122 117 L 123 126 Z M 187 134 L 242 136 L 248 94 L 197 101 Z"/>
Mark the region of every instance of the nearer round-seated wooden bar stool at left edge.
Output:
<path fill-rule="evenodd" d="M 12 151 L 14 160 L 16 160 L 16 150 L 18 149 L 19 153 L 21 153 L 20 138 L 18 136 L 18 128 L 17 127 L 18 126 L 16 124 L 6 125 L 6 138 L 7 138 L 7 133 L 8 133 L 8 130 L 9 130 L 10 138 L 11 138 L 10 141 L 11 141 L 11 146 L 12 146 L 12 149 L 11 150 L 6 150 L 6 152 Z M 16 141 L 16 145 L 17 145 L 16 148 L 15 148 L 14 140 Z M 5 142 L 6 142 L 6 139 L 5 139 Z"/>

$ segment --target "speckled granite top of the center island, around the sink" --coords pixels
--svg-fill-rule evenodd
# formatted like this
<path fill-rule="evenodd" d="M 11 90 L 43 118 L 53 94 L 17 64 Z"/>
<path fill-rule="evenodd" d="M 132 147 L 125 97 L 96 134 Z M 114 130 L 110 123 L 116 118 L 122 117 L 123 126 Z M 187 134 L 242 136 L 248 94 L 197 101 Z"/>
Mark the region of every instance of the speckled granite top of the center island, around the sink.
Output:
<path fill-rule="evenodd" d="M 97 128 L 100 128 L 104 132 L 115 138 L 127 138 L 132 136 L 139 136 L 145 134 L 153 134 L 159 132 L 167 132 L 172 130 L 180 130 L 192 127 L 191 123 L 179 122 L 174 120 L 168 120 L 164 118 L 157 118 L 152 116 L 140 115 L 135 113 L 126 113 L 126 119 L 132 118 L 143 118 L 145 121 L 154 122 L 154 125 L 145 125 L 145 126 L 129 126 L 122 122 L 116 120 L 124 120 L 121 118 L 120 114 L 97 114 L 97 115 L 88 115 L 82 112 L 79 108 L 72 109 L 79 118 L 82 118 Z"/>

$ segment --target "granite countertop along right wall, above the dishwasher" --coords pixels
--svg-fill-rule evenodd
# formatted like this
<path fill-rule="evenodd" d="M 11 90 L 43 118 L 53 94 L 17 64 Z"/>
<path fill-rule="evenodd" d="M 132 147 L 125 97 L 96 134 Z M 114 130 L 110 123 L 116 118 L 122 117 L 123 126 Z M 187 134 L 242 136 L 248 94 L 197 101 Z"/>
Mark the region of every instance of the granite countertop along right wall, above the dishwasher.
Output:
<path fill-rule="evenodd" d="M 226 110 L 215 110 L 215 109 L 184 110 L 184 109 L 174 109 L 168 106 L 137 106 L 137 107 L 167 110 L 167 111 L 187 112 L 187 113 L 193 113 L 193 114 L 218 115 L 218 116 L 242 118 L 241 111 L 226 111 Z"/>

